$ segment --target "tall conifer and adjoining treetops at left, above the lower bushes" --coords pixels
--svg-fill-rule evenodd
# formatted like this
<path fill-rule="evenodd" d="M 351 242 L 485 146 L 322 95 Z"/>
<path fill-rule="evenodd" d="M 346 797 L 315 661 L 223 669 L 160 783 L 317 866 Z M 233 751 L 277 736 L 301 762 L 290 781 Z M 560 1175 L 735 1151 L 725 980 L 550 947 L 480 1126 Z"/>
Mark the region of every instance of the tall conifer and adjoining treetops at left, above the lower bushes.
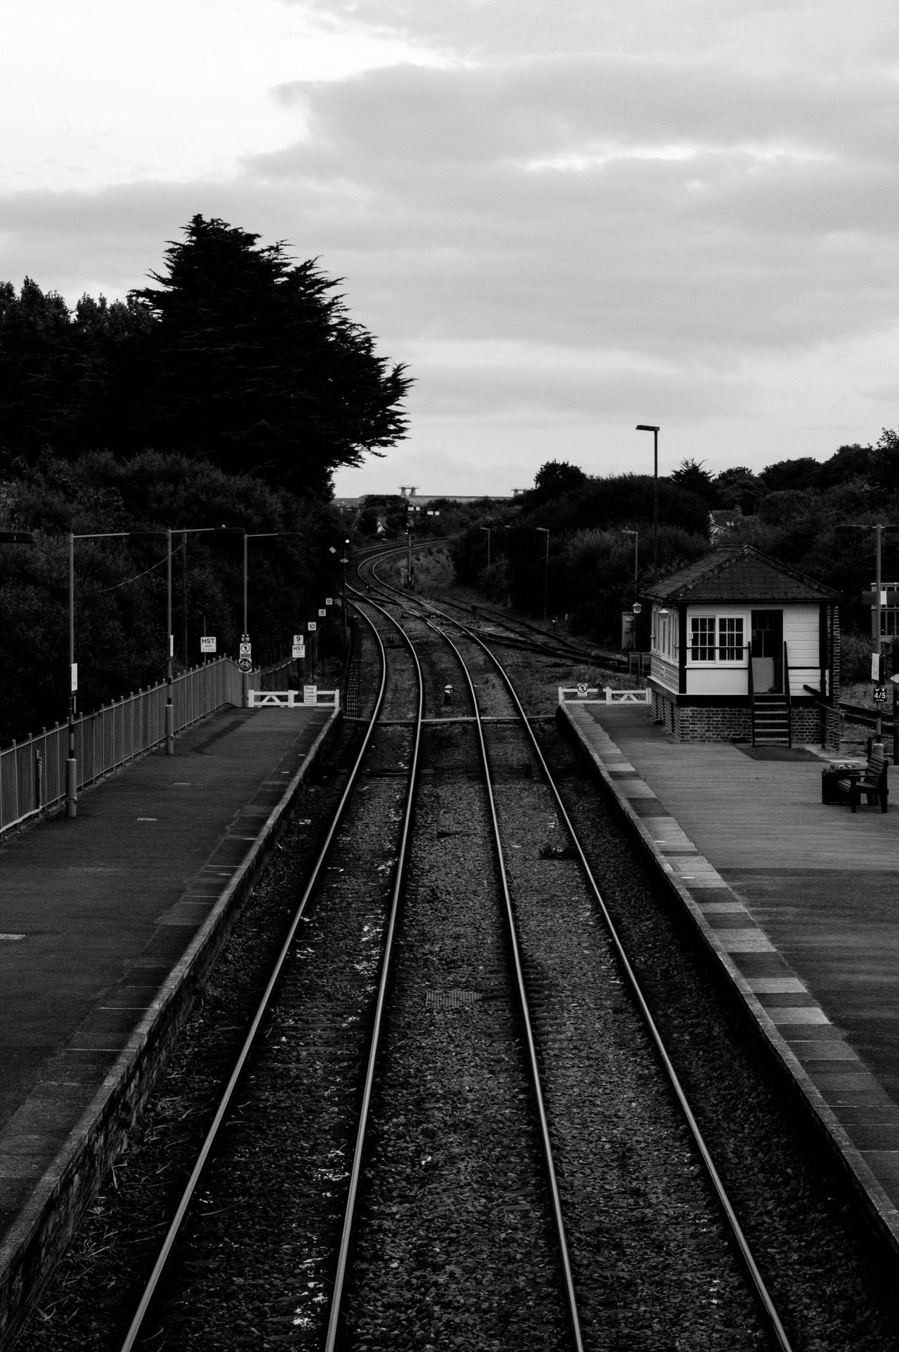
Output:
<path fill-rule="evenodd" d="M 154 449 L 330 498 L 337 468 L 404 435 L 404 368 L 377 356 L 314 260 L 200 215 L 184 237 L 126 301 L 69 311 L 31 279 L 0 284 L 7 470 L 43 450 Z"/>

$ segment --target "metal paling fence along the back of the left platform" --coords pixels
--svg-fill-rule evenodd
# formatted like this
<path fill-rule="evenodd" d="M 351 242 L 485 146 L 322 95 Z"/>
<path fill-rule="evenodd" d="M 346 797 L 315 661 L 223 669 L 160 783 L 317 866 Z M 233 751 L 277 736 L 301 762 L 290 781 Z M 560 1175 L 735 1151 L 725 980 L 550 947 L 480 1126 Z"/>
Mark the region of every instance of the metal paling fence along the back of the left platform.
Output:
<path fill-rule="evenodd" d="M 283 684 L 291 661 L 250 672 L 251 690 Z M 165 741 L 165 683 L 151 685 L 107 704 L 74 725 L 77 788 L 85 788 L 103 775 L 146 756 Z M 174 731 L 183 733 L 226 704 L 242 704 L 241 672 L 230 657 L 204 662 L 176 676 L 172 683 Z M 69 729 L 55 723 L 38 737 L 0 750 L 0 836 L 30 817 L 62 803 L 66 792 L 65 767 L 69 757 Z"/>

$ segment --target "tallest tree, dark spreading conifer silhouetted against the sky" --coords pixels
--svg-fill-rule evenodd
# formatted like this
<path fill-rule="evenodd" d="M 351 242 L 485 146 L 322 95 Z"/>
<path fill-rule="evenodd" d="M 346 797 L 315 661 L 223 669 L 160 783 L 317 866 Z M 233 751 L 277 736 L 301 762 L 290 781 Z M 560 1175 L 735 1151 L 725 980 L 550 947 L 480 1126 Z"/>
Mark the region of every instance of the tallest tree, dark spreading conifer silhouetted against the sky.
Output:
<path fill-rule="evenodd" d="M 327 496 L 334 469 L 404 435 L 404 368 L 376 356 L 315 260 L 199 215 L 184 234 L 132 292 L 155 320 L 143 443 Z"/>

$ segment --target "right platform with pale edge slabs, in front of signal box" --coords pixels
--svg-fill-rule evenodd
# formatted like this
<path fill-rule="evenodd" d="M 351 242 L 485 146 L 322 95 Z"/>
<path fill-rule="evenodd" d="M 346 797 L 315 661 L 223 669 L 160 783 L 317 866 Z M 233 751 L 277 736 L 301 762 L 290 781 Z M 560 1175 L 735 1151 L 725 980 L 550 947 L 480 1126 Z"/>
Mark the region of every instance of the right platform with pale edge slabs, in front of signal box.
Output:
<path fill-rule="evenodd" d="M 899 1253 L 899 767 L 888 811 L 853 814 L 822 803 L 818 748 L 560 707 Z"/>

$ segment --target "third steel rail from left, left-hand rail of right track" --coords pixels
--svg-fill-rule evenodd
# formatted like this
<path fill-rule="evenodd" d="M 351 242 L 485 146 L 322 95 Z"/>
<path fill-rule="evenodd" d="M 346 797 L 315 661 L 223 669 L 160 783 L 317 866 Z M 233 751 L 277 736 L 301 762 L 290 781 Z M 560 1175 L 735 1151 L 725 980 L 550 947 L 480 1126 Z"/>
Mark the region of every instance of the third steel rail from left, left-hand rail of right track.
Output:
<path fill-rule="evenodd" d="M 546 1118 L 546 1106 L 543 1103 L 543 1091 L 542 1091 L 542 1087 L 541 1087 L 539 1063 L 538 1063 L 538 1059 L 537 1059 L 537 1042 L 535 1042 L 535 1038 L 534 1038 L 534 1029 L 531 1026 L 530 1007 L 529 1007 L 529 1002 L 527 1002 L 527 987 L 526 987 L 526 983 L 525 983 L 525 969 L 523 969 L 523 965 L 522 965 L 520 945 L 519 945 L 519 941 L 518 941 L 518 929 L 516 929 L 516 925 L 515 925 L 515 909 L 514 909 L 514 903 L 512 903 L 511 888 L 510 888 L 510 884 L 508 884 L 508 873 L 506 871 L 506 859 L 503 856 L 503 838 L 502 838 L 502 833 L 500 833 L 500 829 L 499 829 L 499 818 L 496 815 L 496 800 L 493 798 L 493 783 L 492 783 L 491 768 L 489 768 L 489 757 L 487 754 L 487 742 L 484 740 L 484 726 L 483 726 L 483 721 L 481 721 L 481 713 L 480 713 L 480 707 L 479 707 L 479 703 L 477 703 L 477 695 L 475 692 L 475 683 L 472 680 L 472 675 L 470 675 L 470 672 L 468 669 L 468 665 L 466 665 L 465 658 L 462 657 L 461 652 L 458 650 L 458 648 L 456 646 L 456 644 L 453 642 L 453 639 L 449 637 L 449 634 L 443 633 L 443 630 L 439 629 L 438 625 L 434 625 L 431 621 L 426 621 L 426 623 L 429 623 L 429 627 L 431 627 L 435 633 L 438 633 L 445 639 L 445 642 L 449 644 L 449 646 L 453 649 L 453 652 L 456 653 L 456 657 L 458 658 L 458 662 L 460 662 L 460 667 L 461 667 L 462 673 L 465 676 L 465 680 L 468 681 L 469 695 L 470 695 L 470 700 L 472 700 L 472 707 L 475 710 L 476 727 L 477 727 L 477 740 L 479 740 L 479 746 L 480 746 L 480 753 L 481 753 L 481 764 L 484 767 L 484 784 L 485 784 L 485 788 L 487 788 L 487 800 L 489 803 L 491 822 L 492 822 L 492 826 L 493 826 L 493 844 L 495 844 L 495 848 L 496 848 L 496 860 L 497 860 L 497 864 L 499 864 L 499 875 L 500 875 L 500 883 L 502 883 L 502 890 L 503 890 L 503 904 L 504 904 L 504 910 L 506 910 L 506 923 L 507 923 L 507 927 L 508 927 L 508 938 L 510 938 L 510 945 L 511 945 L 511 950 L 512 950 L 512 959 L 514 959 L 514 964 L 515 964 L 515 982 L 516 982 L 516 987 L 518 987 L 518 999 L 519 999 L 519 1006 L 520 1006 L 520 1014 L 522 1014 L 522 1021 L 525 1023 L 525 1034 L 526 1034 L 526 1040 L 527 1040 L 527 1065 L 529 1065 L 529 1071 L 530 1071 L 530 1076 L 531 1076 L 531 1088 L 534 1091 L 534 1101 L 535 1101 L 535 1105 L 537 1105 L 537 1119 L 538 1119 L 538 1124 L 539 1124 L 539 1136 L 541 1136 L 541 1144 L 542 1144 L 542 1148 L 543 1148 L 543 1164 L 546 1167 L 549 1190 L 550 1190 L 550 1195 L 552 1195 L 553 1222 L 554 1222 L 554 1226 L 556 1226 L 556 1241 L 558 1244 L 558 1253 L 560 1253 L 560 1259 L 561 1259 L 561 1264 L 562 1264 L 562 1278 L 564 1278 L 564 1286 L 565 1286 L 565 1305 L 566 1305 L 566 1309 L 568 1309 L 568 1318 L 569 1318 L 570 1328 L 572 1328 L 572 1336 L 575 1338 L 575 1347 L 576 1347 L 577 1352 L 584 1352 L 584 1340 L 583 1340 L 581 1329 L 580 1329 L 580 1317 L 577 1314 L 577 1295 L 575 1293 L 575 1276 L 573 1276 L 573 1272 L 572 1272 L 570 1256 L 569 1256 L 569 1251 L 568 1251 L 568 1238 L 565 1236 L 565 1218 L 562 1215 L 562 1199 L 561 1199 L 561 1194 L 558 1191 L 558 1182 L 557 1182 L 557 1178 L 556 1178 L 556 1165 L 553 1163 L 553 1145 L 552 1145 L 552 1141 L 549 1138 L 549 1121 Z"/>

